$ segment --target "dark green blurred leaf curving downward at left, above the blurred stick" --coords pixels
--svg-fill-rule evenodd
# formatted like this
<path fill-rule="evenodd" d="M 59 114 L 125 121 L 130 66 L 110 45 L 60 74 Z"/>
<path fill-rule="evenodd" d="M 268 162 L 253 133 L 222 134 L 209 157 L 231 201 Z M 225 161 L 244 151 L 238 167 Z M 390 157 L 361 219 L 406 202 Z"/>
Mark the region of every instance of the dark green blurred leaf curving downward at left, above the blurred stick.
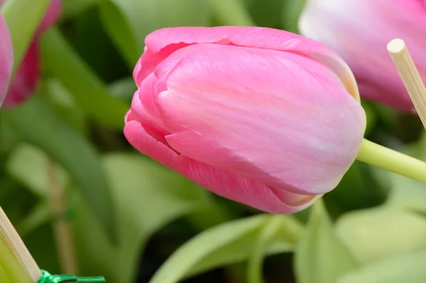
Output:
<path fill-rule="evenodd" d="M 116 221 L 109 184 L 97 152 L 80 133 L 34 95 L 23 106 L 4 111 L 7 119 L 23 140 L 43 149 L 58 162 L 70 177 L 80 184 L 84 199 L 96 214 L 104 231 L 116 240 Z"/>

